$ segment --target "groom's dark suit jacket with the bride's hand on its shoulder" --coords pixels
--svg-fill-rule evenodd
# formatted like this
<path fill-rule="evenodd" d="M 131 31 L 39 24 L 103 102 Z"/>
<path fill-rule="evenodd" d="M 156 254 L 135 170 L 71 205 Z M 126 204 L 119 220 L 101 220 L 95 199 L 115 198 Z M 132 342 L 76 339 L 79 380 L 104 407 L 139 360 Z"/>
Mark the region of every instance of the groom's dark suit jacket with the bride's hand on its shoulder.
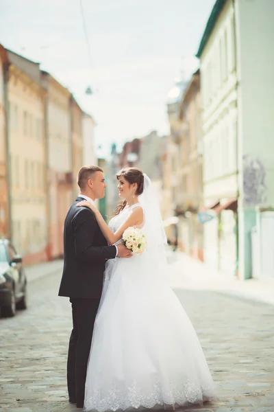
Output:
<path fill-rule="evenodd" d="M 64 222 L 64 268 L 59 296 L 100 299 L 105 261 L 116 257 L 116 247 L 108 246 L 95 214 L 77 207 L 77 197 Z"/>

